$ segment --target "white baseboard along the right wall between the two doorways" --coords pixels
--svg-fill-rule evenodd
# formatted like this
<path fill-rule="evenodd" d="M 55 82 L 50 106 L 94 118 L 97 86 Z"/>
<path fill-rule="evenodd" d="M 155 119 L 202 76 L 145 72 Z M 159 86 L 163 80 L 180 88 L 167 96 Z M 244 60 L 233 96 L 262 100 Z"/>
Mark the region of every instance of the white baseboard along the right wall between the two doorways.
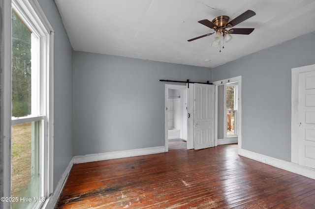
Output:
<path fill-rule="evenodd" d="M 261 155 L 244 149 L 241 149 L 241 153 L 239 153 L 239 155 L 290 171 L 292 173 L 315 179 L 315 169 L 312 168 L 304 167 L 293 162 L 284 161 L 282 159 Z"/>

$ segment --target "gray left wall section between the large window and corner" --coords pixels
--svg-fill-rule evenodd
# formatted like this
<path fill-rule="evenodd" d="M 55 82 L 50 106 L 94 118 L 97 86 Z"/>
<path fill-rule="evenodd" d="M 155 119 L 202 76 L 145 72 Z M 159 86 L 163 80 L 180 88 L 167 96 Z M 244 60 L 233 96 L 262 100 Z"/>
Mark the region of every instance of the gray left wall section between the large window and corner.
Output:
<path fill-rule="evenodd" d="M 73 157 L 72 47 L 53 0 L 38 0 L 55 30 L 54 39 L 54 189 Z"/>

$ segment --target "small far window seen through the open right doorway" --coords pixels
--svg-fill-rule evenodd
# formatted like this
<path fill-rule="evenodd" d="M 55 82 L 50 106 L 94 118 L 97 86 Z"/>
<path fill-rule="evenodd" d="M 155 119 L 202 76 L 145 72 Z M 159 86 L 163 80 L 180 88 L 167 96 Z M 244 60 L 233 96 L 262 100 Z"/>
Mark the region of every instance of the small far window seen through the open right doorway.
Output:
<path fill-rule="evenodd" d="M 226 91 L 226 136 L 235 136 L 237 117 L 237 85 L 227 84 Z"/>

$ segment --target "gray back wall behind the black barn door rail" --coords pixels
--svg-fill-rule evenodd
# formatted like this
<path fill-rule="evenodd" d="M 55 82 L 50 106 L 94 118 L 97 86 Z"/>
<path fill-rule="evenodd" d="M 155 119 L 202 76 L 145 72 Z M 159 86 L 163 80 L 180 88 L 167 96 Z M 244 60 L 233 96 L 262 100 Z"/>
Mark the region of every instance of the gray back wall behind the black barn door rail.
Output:
<path fill-rule="evenodd" d="M 74 155 L 164 146 L 164 83 L 211 80 L 211 69 L 74 52 Z"/>

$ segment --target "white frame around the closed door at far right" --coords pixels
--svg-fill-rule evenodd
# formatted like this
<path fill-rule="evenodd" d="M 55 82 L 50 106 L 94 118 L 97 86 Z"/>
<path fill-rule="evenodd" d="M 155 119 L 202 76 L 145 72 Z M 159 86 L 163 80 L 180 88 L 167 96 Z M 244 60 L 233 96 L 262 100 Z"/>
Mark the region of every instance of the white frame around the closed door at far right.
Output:
<path fill-rule="evenodd" d="M 299 164 L 299 74 L 314 71 L 314 65 L 291 69 L 291 162 Z"/>

